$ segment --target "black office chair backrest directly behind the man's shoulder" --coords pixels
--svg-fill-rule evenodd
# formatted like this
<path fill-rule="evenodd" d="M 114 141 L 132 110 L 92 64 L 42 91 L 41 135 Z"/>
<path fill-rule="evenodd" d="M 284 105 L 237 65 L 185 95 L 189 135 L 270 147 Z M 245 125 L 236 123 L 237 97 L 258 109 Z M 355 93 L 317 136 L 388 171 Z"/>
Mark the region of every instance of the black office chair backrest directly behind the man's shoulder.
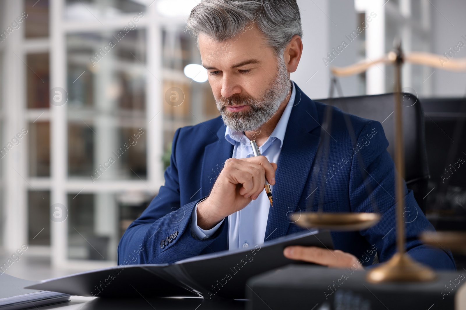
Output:
<path fill-rule="evenodd" d="M 406 185 L 414 192 L 414 198 L 425 213 L 425 195 L 430 178 L 425 147 L 424 111 L 419 99 L 411 93 L 402 94 L 404 160 Z M 389 146 L 387 151 L 394 158 L 394 98 L 393 93 L 372 96 L 317 99 L 325 104 L 336 106 L 344 112 L 382 123 Z M 356 133 L 357 134 L 357 133 Z"/>

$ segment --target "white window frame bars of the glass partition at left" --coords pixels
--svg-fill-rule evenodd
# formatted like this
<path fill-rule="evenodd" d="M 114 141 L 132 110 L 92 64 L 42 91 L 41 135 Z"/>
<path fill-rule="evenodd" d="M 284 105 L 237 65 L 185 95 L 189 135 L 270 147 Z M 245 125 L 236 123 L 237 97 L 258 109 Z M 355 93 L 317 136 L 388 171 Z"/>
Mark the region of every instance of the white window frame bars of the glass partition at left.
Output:
<path fill-rule="evenodd" d="M 24 12 L 23 0 L 5 0 L 5 16 L 17 16 Z M 159 16 L 156 6 L 147 7 L 144 19 L 138 22 L 138 29 L 146 29 L 146 132 L 147 132 L 147 179 L 146 180 L 89 180 L 68 178 L 67 104 L 50 106 L 49 109 L 27 109 L 26 61 L 28 53 L 50 55 L 50 88 L 67 89 L 66 35 L 80 32 L 100 32 L 122 29 L 134 14 L 125 14 L 111 20 L 70 22 L 64 20 L 65 0 L 49 0 L 49 37 L 25 39 L 24 26 L 7 38 L 9 42 L 0 46 L 4 50 L 3 61 L 5 81 L 3 96 L 4 130 L 2 141 L 13 137 L 18 128 L 27 127 L 29 122 L 40 116 L 41 121 L 50 121 L 50 178 L 28 177 L 27 143 L 15 147 L 15 156 L 2 159 L 3 192 L 3 246 L 15 251 L 21 244 L 27 244 L 27 192 L 50 191 L 50 204 L 60 203 L 68 208 L 69 193 L 119 192 L 125 190 L 158 193 L 164 183 L 162 156 L 163 148 L 163 70 L 162 70 L 162 26 L 185 25 L 182 18 Z M 3 25 L 2 25 L 3 26 Z M 3 29 L 3 28 L 2 28 Z M 3 44 L 3 43 L 2 43 Z M 22 59 L 19 59 L 13 52 Z M 159 82 L 160 81 L 160 82 Z M 13 104 L 17 103 L 17 104 Z M 42 113 L 43 112 L 43 113 Z M 11 136 L 11 137 L 10 137 Z M 8 138 L 9 137 L 9 138 Z M 13 151 L 13 150 L 12 150 Z M 13 170 L 15 167 L 16 171 Z M 116 261 L 74 260 L 68 258 L 68 221 L 50 222 L 51 245 L 30 246 L 29 255 L 50 256 L 53 268 L 93 269 L 116 264 Z"/>

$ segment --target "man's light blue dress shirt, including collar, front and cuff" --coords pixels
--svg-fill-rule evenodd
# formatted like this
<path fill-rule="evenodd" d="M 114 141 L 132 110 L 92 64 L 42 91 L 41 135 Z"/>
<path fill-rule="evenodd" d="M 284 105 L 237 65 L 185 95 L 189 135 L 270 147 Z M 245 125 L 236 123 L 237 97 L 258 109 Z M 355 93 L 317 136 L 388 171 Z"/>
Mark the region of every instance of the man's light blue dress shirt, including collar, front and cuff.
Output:
<path fill-rule="evenodd" d="M 281 115 L 274 131 L 270 134 L 267 141 L 259 147 L 260 154 L 265 156 L 271 163 L 277 163 L 285 138 L 285 132 L 288 125 L 288 119 L 291 109 L 295 103 L 295 84 L 292 82 L 293 90 L 291 92 L 288 104 Z M 251 141 L 243 132 L 233 131 L 226 127 L 225 139 L 234 145 L 233 158 L 248 158 L 254 156 L 249 142 Z M 274 193 L 273 185 L 270 185 L 272 195 Z M 256 200 L 252 200 L 244 209 L 237 211 L 228 216 L 228 250 L 238 248 L 254 247 L 256 244 L 262 244 L 267 239 L 265 231 L 267 228 L 268 210 L 270 201 L 267 193 L 262 191 Z M 215 227 L 209 230 L 203 230 L 197 225 L 197 205 L 191 214 L 191 229 L 195 235 L 201 239 L 206 239 L 217 231 L 224 219 Z"/>

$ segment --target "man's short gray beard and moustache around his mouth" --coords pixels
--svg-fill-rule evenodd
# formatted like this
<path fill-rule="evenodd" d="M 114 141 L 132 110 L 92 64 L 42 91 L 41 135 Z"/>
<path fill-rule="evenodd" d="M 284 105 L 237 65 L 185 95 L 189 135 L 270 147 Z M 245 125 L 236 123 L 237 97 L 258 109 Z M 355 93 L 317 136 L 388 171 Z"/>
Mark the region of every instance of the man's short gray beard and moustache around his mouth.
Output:
<path fill-rule="evenodd" d="M 290 92 L 290 79 L 283 59 L 279 59 L 278 72 L 260 99 L 234 94 L 229 98 L 216 100 L 217 109 L 225 125 L 238 132 L 253 131 L 264 125 L 278 111 Z M 230 112 L 226 106 L 247 105 L 248 111 Z"/>

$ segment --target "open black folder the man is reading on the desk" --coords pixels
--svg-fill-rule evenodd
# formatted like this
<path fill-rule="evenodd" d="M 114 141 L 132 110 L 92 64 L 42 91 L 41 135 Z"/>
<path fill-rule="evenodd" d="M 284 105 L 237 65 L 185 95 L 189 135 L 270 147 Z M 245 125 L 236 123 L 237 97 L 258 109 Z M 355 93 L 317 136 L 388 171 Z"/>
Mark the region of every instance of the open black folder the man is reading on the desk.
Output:
<path fill-rule="evenodd" d="M 173 264 L 119 265 L 42 281 L 27 288 L 96 297 L 244 299 L 250 277 L 288 264 L 288 245 L 333 249 L 329 231 L 296 233 L 254 248 L 200 255 Z"/>

